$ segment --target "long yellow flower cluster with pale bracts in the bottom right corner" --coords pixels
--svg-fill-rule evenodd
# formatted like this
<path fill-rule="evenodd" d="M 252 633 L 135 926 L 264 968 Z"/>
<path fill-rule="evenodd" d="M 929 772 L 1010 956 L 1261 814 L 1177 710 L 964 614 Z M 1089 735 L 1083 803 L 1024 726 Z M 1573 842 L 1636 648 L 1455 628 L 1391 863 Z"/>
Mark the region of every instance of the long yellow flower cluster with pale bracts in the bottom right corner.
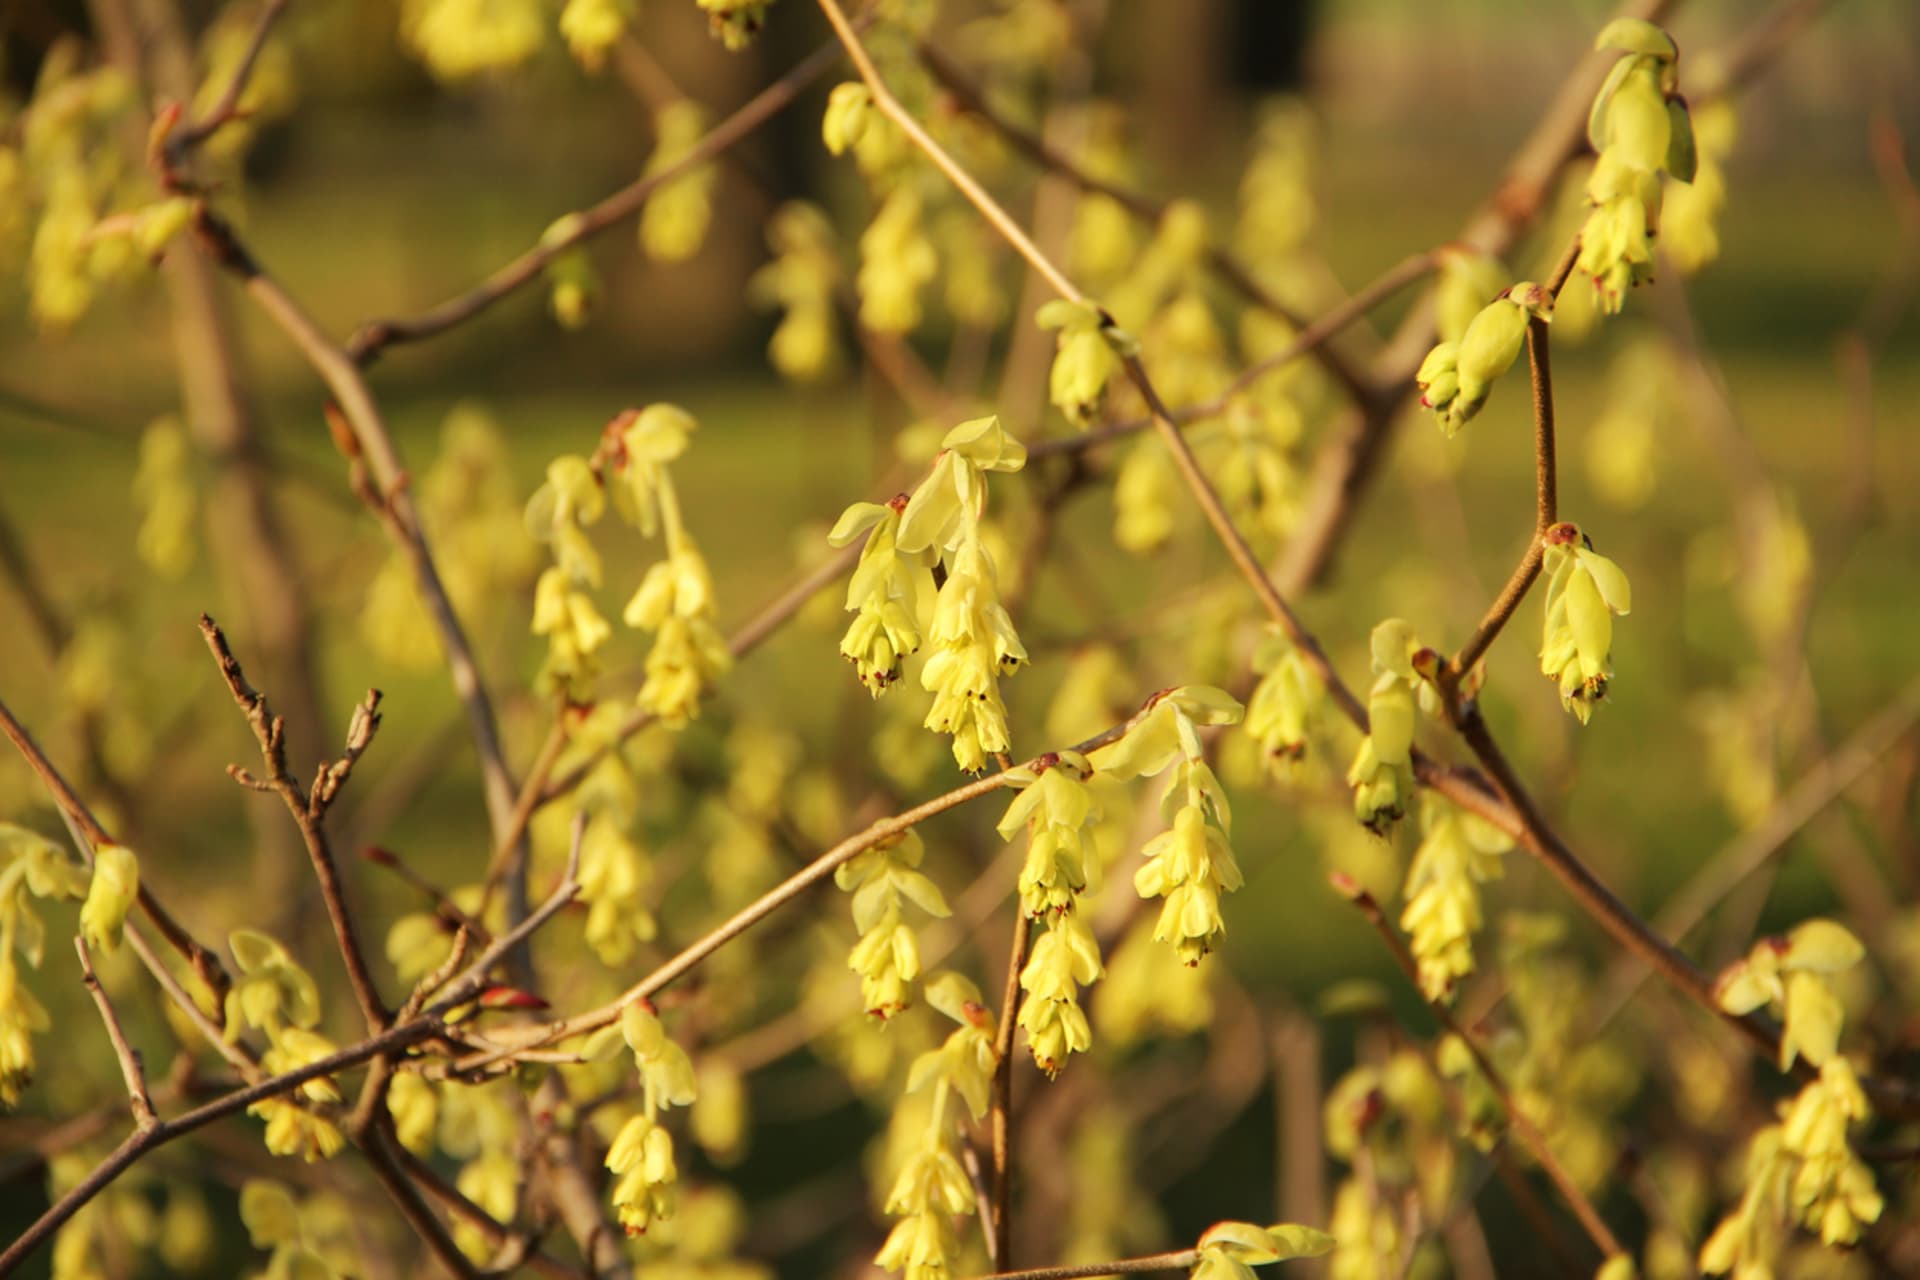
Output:
<path fill-rule="evenodd" d="M 1872 1169 L 1847 1140 L 1870 1107 L 1853 1063 L 1839 1054 L 1845 1009 L 1832 990 L 1832 977 L 1864 954 L 1841 925 L 1811 919 L 1786 936 L 1763 938 L 1720 975 L 1716 994 L 1728 1013 L 1784 1011 L 1780 1069 L 1805 1057 L 1820 1075 L 1780 1103 L 1780 1123 L 1753 1136 L 1740 1205 L 1701 1245 L 1707 1274 L 1768 1274 L 1791 1222 L 1818 1232 L 1822 1244 L 1855 1244 L 1885 1209 Z"/>

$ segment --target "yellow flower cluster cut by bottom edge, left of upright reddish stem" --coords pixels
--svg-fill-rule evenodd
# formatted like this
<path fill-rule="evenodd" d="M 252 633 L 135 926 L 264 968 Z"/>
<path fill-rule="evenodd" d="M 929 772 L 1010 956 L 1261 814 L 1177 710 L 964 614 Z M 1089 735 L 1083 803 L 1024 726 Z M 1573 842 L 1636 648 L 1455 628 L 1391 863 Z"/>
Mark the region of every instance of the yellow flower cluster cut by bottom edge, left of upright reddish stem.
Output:
<path fill-rule="evenodd" d="M 993 1013 L 981 1004 L 979 988 L 958 973 L 943 973 L 927 983 L 927 1004 L 956 1021 L 958 1029 L 939 1048 L 914 1059 L 906 1075 L 906 1092 L 931 1088 L 931 1105 L 920 1148 L 900 1165 L 887 1192 L 887 1213 L 900 1221 L 874 1257 L 877 1267 L 897 1270 L 904 1280 L 947 1280 L 958 1261 L 960 1240 L 952 1219 L 972 1211 L 973 1184 L 954 1153 L 947 1103 L 958 1094 L 975 1121 L 987 1115 L 998 1063 Z"/>

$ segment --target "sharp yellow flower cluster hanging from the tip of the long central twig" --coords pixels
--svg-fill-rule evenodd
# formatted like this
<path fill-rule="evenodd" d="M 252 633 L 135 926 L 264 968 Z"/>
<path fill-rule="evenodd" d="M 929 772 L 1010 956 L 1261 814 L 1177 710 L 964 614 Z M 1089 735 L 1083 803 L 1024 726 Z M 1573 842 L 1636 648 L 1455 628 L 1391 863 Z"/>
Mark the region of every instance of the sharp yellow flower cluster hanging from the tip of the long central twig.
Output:
<path fill-rule="evenodd" d="M 1116 781 L 1173 768 L 1160 800 L 1171 827 L 1146 842 L 1146 864 L 1135 871 L 1133 889 L 1142 898 L 1165 898 L 1154 938 L 1173 946 L 1185 965 L 1198 965 L 1227 933 L 1219 896 L 1242 883 L 1227 842 L 1233 827 L 1227 793 L 1200 745 L 1202 725 L 1238 723 L 1240 714 L 1242 706 L 1219 689 L 1167 689 L 1125 737 L 1091 756 L 1092 766 Z"/>

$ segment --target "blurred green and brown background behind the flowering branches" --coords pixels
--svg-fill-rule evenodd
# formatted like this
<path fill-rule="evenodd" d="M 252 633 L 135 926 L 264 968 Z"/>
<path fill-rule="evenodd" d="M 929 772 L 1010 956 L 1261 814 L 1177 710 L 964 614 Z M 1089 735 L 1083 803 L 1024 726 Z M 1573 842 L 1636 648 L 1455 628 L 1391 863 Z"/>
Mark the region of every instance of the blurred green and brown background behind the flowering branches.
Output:
<path fill-rule="evenodd" d="M 211 6 L 186 8 L 194 21 L 211 17 Z M 995 6 L 948 8 L 956 15 L 943 31 L 958 29 L 960 10 Z M 1300 286 L 1308 309 L 1453 236 L 1607 15 L 1590 2 L 1104 8 L 1085 75 L 1127 111 L 1137 180 L 1152 194 L 1192 196 L 1217 225 L 1231 225 L 1260 104 L 1288 94 L 1311 107 L 1309 248 L 1325 271 Z M 1920 330 L 1907 307 L 1920 261 L 1910 169 L 1920 146 L 1920 21 L 1903 0 L 1807 8 L 1822 12 L 1738 100 L 1720 259 L 1697 278 L 1636 294 L 1626 315 L 1555 349 L 1561 510 L 1634 580 L 1617 685 L 1590 727 L 1563 716 L 1532 662 L 1538 604 L 1488 664 L 1488 704 L 1511 754 L 1574 846 L 1645 910 L 1759 823 L 1776 793 L 1832 745 L 1895 697 L 1912 697 L 1920 674 Z M 1743 0 L 1678 6 L 1670 27 L 1686 52 L 1682 83 L 1690 59 L 1738 42 L 1759 10 Z M 632 180 L 653 140 L 649 106 L 662 92 L 659 75 L 624 65 L 584 73 L 557 38 L 511 75 L 442 86 L 399 46 L 396 25 L 388 0 L 296 0 L 282 48 L 298 98 L 288 115 L 261 123 L 244 173 L 219 196 L 261 261 L 340 338 L 367 319 L 457 294 L 553 219 Z M 8 92 L 23 98 L 52 42 L 86 31 L 81 6 L 8 0 Z M 741 54 L 708 38 L 689 0 L 647 0 L 634 31 L 651 71 L 712 119 L 826 38 L 801 0 L 774 6 L 762 38 Z M 964 40 L 954 48 L 979 65 Z M 524 501 L 545 462 L 589 451 L 609 416 L 674 401 L 701 420 L 676 476 L 716 572 L 722 622 L 749 618 L 818 560 L 837 512 L 881 495 L 897 441 L 925 436 L 914 432 L 914 409 L 856 353 L 845 376 L 781 382 L 764 357 L 776 317 L 747 299 L 780 201 L 828 207 L 851 261 L 868 201 L 852 169 L 820 146 L 833 79 L 720 163 L 712 225 L 693 259 L 651 261 L 630 223 L 591 244 L 601 294 L 586 328 L 563 330 L 545 290 L 532 288 L 459 330 L 386 353 L 371 380 L 407 462 L 432 466 L 449 415 L 484 415 L 505 445 L 513 501 Z M 1006 159 L 993 177 L 1016 211 L 1031 205 L 1033 175 L 1021 161 Z M 1544 232 L 1523 242 L 1513 274 L 1542 274 L 1565 236 L 1565 221 L 1546 219 Z M 993 269 L 1018 294 L 1016 263 L 1000 255 Z M 134 553 L 142 430 L 180 411 L 165 294 L 136 280 L 106 292 L 65 332 L 40 332 L 25 315 L 19 276 L 10 263 L 0 278 L 0 518 L 10 547 L 0 697 L 104 812 L 136 833 L 148 875 L 204 936 L 257 919 L 311 929 L 319 902 L 298 867 L 275 871 L 257 856 L 261 829 L 278 816 L 261 818 L 255 806 L 269 800 L 223 773 L 228 760 L 248 758 L 250 741 L 205 660 L 196 616 L 228 622 L 248 656 L 252 637 L 232 620 L 252 603 L 234 599 L 221 572 L 232 549 L 204 543 L 171 580 Z M 1215 296 L 1227 313 L 1227 296 Z M 1379 332 L 1392 332 L 1405 301 L 1375 313 Z M 344 839 L 378 842 L 438 883 L 461 883 L 486 856 L 486 819 L 451 689 L 430 662 L 396 662 L 369 643 L 363 614 L 386 543 L 351 499 L 311 370 L 257 311 L 236 301 L 234 322 L 246 397 L 300 566 L 300 580 L 278 589 L 313 601 L 321 739 L 344 727 L 369 685 L 386 695 L 378 745 L 344 804 Z M 1014 324 L 1025 326 L 1025 317 Z M 1674 334 L 1686 342 L 1674 345 Z M 956 336 L 935 307 L 912 342 L 935 376 L 964 380 L 950 388 L 954 401 L 1000 411 L 1023 438 L 1069 430 L 1046 409 L 1043 380 L 995 391 L 1010 347 L 1004 332 L 987 344 Z M 968 378 L 970 368 L 981 376 Z M 1526 415 L 1519 376 L 1457 441 L 1405 413 L 1350 541 L 1300 603 L 1350 683 L 1365 672 L 1365 635 L 1379 618 L 1402 614 L 1432 643 L 1453 645 L 1503 581 L 1532 516 Z M 1309 420 L 1302 466 L 1331 420 L 1331 409 Z M 1622 464 L 1622 455 L 1632 461 Z M 207 462 L 194 466 L 205 472 Z M 1021 478 L 995 484 L 996 501 L 1010 493 L 1018 509 L 1031 499 L 1018 493 Z M 1246 618 L 1244 591 L 1204 530 L 1187 524 L 1165 553 L 1139 560 L 1114 549 L 1112 520 L 1110 487 L 1083 489 L 1064 512 L 1054 560 L 1033 570 L 1023 631 L 1037 662 L 1008 687 L 1021 747 L 1043 745 L 1048 695 L 1089 643 L 1112 641 L 1140 695 L 1190 679 L 1231 683 L 1244 672 L 1250 633 L 1235 626 Z M 632 574 L 649 558 L 637 543 L 612 547 L 611 562 Z M 23 574 L 40 585 L 23 593 Z M 63 649 L 44 643 L 29 595 L 58 610 Z M 893 741 L 883 735 L 889 716 L 835 656 L 831 604 L 803 614 L 726 681 L 678 745 L 676 787 L 712 785 L 728 768 L 732 727 L 745 722 L 789 731 L 797 768 L 826 779 L 847 814 L 876 789 L 918 796 L 952 785 L 945 752 L 918 791 L 877 768 L 876 741 Z M 516 587 L 468 618 L 518 768 L 549 718 L 532 691 L 540 645 L 526 633 L 528 608 L 528 589 Z M 1755 639 L 1755 618 L 1774 620 L 1759 631 L 1778 643 Z M 616 645 L 609 697 L 634 687 L 641 654 L 628 641 L 622 658 Z M 96 760 L 88 733 L 106 745 Z M 1329 743 L 1338 770 L 1350 743 Z M 1828 910 L 1872 940 L 1916 936 L 1907 906 L 1920 883 L 1914 773 L 1908 737 L 1791 841 L 1778 875 L 1734 898 L 1695 952 L 1720 963 L 1757 931 Z M 1321 775 L 1236 791 L 1248 887 L 1231 900 L 1229 944 L 1210 963 L 1231 971 L 1261 1009 L 1311 1011 L 1334 990 L 1348 1004 L 1384 998 L 1425 1031 L 1430 1023 L 1379 940 L 1325 887 L 1325 871 L 1338 865 L 1392 896 L 1405 844 L 1350 833 L 1332 793 Z M 0 756 L 0 816 L 58 833 L 44 793 L 12 754 Z M 678 902 L 697 877 L 703 835 L 662 823 L 649 842 L 662 902 Z M 958 892 L 995 852 L 991 819 L 945 819 L 929 844 L 929 869 Z M 783 856 L 806 848 L 801 829 Z M 372 938 L 417 908 L 374 867 L 353 877 Z M 1127 877 L 1114 879 L 1123 889 Z M 1494 894 L 1501 910 L 1567 906 L 1519 856 Z M 845 927 L 831 894 L 804 910 Z M 697 908 L 687 919 L 691 936 Z M 680 933 L 670 910 L 662 921 L 668 936 Z M 983 986 L 998 983 L 1004 929 L 981 929 L 979 956 L 962 950 Z M 319 933 L 307 938 L 321 942 Z M 1569 946 L 1596 969 L 1607 956 L 1582 923 Z M 0 1236 L 42 1203 L 35 1134 L 117 1088 L 71 958 L 52 952 L 33 981 L 60 1025 L 75 1031 L 42 1044 L 44 1080 L 25 1119 L 0 1121 Z M 1887 971 L 1912 963 L 1897 950 L 1876 956 Z M 319 950 L 311 967 L 332 973 Z M 1377 994 L 1356 979 L 1377 983 Z M 791 1004 L 791 983 L 766 983 L 758 1007 L 772 1017 Z M 129 981 L 127 990 L 136 988 Z M 1899 1021 L 1891 1009 L 1884 1017 Z M 1352 1061 L 1367 1027 L 1325 1023 L 1317 1061 L 1327 1079 Z M 1263 1217 L 1277 1203 L 1277 1094 L 1261 1034 L 1254 1023 L 1254 1044 L 1238 1057 L 1181 1042 L 1142 1050 L 1162 1055 L 1156 1079 L 1167 1100 L 1135 1134 L 1133 1159 L 1165 1242 L 1217 1217 Z M 1039 1088 L 1023 1077 L 1027 1098 Z M 856 1169 L 876 1107 L 806 1050 L 756 1075 L 753 1096 L 751 1148 L 724 1173 L 753 1205 L 749 1251 L 770 1255 L 781 1274 L 858 1274 L 849 1259 L 877 1240 Z M 221 1197 L 236 1178 L 269 1171 L 244 1125 L 175 1148 L 163 1176 L 204 1182 L 228 1203 Z M 1029 1153 L 1050 1157 L 1044 1146 Z M 328 1180 L 321 1171 L 294 1174 Z M 1500 1226 L 1501 1197 L 1488 1192 L 1488 1230 L 1511 1245 L 1524 1228 Z M 248 1257 L 244 1240 L 223 1228 L 217 1261 L 202 1274 L 232 1274 Z M 154 1265 L 142 1274 L 156 1274 Z M 1498 1274 L 1555 1272 L 1519 1257 L 1503 1259 Z"/>

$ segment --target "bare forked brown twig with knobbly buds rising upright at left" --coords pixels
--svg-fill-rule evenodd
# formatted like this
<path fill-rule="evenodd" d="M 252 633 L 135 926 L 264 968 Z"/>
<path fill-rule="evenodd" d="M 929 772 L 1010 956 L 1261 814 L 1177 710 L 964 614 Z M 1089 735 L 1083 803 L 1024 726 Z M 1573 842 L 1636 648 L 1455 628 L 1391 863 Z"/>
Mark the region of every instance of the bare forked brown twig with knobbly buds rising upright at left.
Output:
<path fill-rule="evenodd" d="M 205 637 L 207 649 L 221 668 L 227 691 L 232 693 L 234 704 L 246 716 L 253 737 L 259 741 L 259 754 L 267 764 L 267 787 L 280 796 L 294 825 L 300 827 L 300 839 L 307 846 L 307 858 L 313 862 L 313 877 L 321 885 L 321 900 L 326 904 L 326 919 L 334 927 L 340 960 L 346 963 L 348 983 L 353 986 L 353 998 L 359 1000 L 361 1013 L 367 1017 L 367 1031 L 376 1032 L 386 1027 L 388 1009 L 386 1002 L 380 1000 L 380 986 L 367 967 L 367 956 L 353 931 L 353 913 L 348 910 L 346 887 L 340 881 L 332 842 L 326 839 L 326 804 L 338 794 L 353 770 L 353 762 L 367 750 L 374 729 L 380 725 L 376 710 L 380 706 L 380 691 L 367 691 L 367 700 L 353 710 L 353 727 L 348 733 L 346 754 L 330 766 L 321 768 L 313 779 L 311 794 L 305 794 L 300 789 L 300 779 L 286 768 L 284 722 L 273 714 L 267 697 L 246 683 L 246 672 L 240 670 L 240 660 L 234 658 L 227 637 L 213 618 L 200 614 L 200 633 Z M 244 770 L 234 768 L 232 773 L 236 781 L 250 781 Z"/>

